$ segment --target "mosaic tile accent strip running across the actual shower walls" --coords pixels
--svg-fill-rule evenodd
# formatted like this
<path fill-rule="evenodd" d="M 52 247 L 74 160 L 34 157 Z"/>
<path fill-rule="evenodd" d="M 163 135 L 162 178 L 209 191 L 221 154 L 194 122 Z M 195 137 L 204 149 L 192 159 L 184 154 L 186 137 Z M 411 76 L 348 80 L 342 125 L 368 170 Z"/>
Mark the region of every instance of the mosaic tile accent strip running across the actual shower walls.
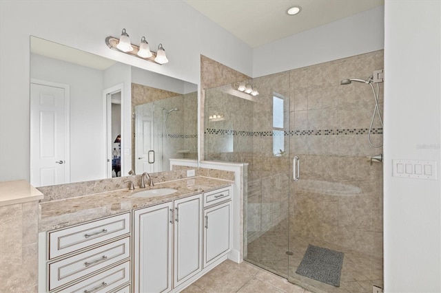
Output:
<path fill-rule="evenodd" d="M 367 134 L 368 128 L 352 129 L 317 129 L 317 130 L 291 130 L 291 131 L 239 131 L 229 129 L 206 129 L 205 134 L 234 135 L 234 136 L 303 136 L 303 135 L 360 135 Z M 372 134 L 383 134 L 382 128 L 373 128 Z"/>

